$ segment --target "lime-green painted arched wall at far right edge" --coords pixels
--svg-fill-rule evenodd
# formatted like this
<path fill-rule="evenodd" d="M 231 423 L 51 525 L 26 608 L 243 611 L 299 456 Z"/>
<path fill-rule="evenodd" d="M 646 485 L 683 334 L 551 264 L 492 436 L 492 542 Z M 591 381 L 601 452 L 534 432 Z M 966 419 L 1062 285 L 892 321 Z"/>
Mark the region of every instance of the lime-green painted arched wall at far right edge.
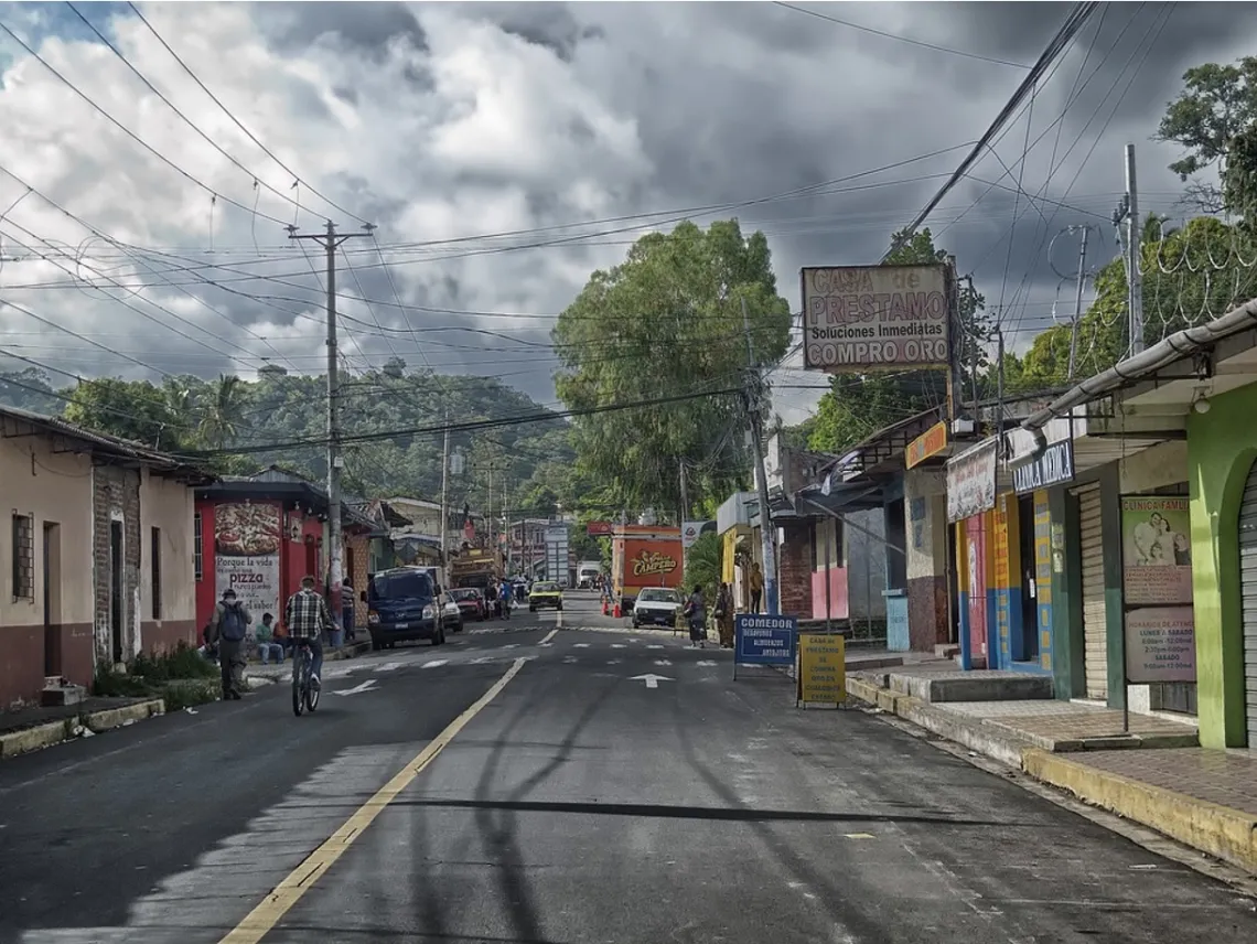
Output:
<path fill-rule="evenodd" d="M 1257 459 L 1257 385 L 1209 398 L 1188 414 L 1192 592 L 1200 745 L 1243 747 L 1244 680 L 1239 611 L 1239 503 Z"/>

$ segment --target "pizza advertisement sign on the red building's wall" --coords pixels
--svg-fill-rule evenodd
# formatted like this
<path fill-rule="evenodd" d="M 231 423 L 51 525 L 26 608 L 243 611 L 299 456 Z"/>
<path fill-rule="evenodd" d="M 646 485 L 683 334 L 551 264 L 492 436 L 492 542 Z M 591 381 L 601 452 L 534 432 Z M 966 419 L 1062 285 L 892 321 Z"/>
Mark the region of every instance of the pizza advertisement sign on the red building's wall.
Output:
<path fill-rule="evenodd" d="M 214 581 L 217 596 L 230 587 L 249 607 L 254 625 L 279 610 L 279 505 L 220 504 L 214 515 Z"/>

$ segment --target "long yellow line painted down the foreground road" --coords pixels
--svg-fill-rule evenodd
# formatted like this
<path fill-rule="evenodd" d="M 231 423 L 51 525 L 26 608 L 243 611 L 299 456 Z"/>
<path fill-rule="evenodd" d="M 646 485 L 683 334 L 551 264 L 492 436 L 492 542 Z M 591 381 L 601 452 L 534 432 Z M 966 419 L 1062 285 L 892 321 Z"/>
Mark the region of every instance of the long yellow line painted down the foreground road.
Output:
<path fill-rule="evenodd" d="M 553 634 L 552 634 L 553 635 Z M 517 659 L 507 674 L 493 684 L 470 708 L 450 722 L 449 727 L 436 735 L 427 747 L 419 752 L 401 771 L 398 771 L 388 783 L 381 787 L 371 799 L 363 803 L 349 816 L 348 820 L 333 832 L 328 840 L 316 848 L 305 861 L 297 866 L 274 891 L 266 895 L 253 911 L 245 915 L 231 931 L 222 938 L 219 944 L 259 944 L 272 929 L 283 919 L 302 895 L 314 885 L 331 869 L 344 851 L 353 845 L 375 821 L 385 807 L 409 787 L 424 769 L 436 759 L 436 755 L 454 740 L 468 722 L 475 718 L 485 705 L 493 701 L 507 684 L 524 667 L 527 659 Z"/>

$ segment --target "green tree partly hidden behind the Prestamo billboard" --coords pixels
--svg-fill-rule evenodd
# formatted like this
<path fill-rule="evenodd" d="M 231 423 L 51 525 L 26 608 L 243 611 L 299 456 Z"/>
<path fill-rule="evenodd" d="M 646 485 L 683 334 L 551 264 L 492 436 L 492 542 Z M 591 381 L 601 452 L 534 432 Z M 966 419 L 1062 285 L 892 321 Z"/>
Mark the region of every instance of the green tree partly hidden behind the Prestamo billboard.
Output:
<path fill-rule="evenodd" d="M 891 245 L 899 248 L 886 258 L 887 265 L 933 265 L 947 260 L 947 250 L 934 245 L 929 229 L 911 238 L 896 233 Z M 970 368 L 987 365 L 991 324 L 985 299 L 964 280 L 959 293 L 959 359 Z M 947 400 L 947 373 L 906 371 L 897 373 L 838 373 L 830 380 L 830 392 L 821 397 L 816 416 L 807 429 L 811 449 L 840 453 L 874 432 L 908 419 Z"/>

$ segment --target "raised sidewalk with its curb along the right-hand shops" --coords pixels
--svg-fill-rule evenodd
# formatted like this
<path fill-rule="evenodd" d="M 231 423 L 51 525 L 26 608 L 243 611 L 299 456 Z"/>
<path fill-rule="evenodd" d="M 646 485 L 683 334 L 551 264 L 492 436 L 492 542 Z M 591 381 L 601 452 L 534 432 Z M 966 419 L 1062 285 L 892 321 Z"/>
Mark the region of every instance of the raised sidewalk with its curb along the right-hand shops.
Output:
<path fill-rule="evenodd" d="M 1121 711 L 1079 701 L 1024 694 L 950 700 L 948 695 L 960 690 L 949 693 L 949 684 L 984 681 L 982 696 L 991 698 L 1006 676 L 1016 675 L 954 669 L 954 664 L 924 664 L 877 672 L 852 666 L 847 690 L 1092 806 L 1257 875 L 1257 752 L 1202 749 L 1189 718 L 1133 713 L 1130 734 L 1123 734 Z"/>

